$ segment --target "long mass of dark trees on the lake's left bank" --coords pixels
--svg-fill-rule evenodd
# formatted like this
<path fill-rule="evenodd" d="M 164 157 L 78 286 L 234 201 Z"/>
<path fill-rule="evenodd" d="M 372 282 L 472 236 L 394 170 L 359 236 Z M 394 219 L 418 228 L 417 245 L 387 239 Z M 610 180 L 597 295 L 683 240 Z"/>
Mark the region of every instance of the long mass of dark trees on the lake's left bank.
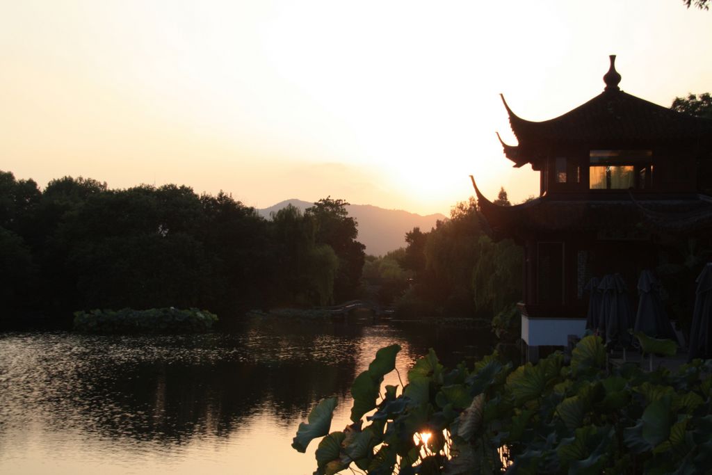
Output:
<path fill-rule="evenodd" d="M 365 246 L 341 199 L 259 216 L 229 194 L 0 172 L 3 313 L 327 305 L 355 296 Z"/>

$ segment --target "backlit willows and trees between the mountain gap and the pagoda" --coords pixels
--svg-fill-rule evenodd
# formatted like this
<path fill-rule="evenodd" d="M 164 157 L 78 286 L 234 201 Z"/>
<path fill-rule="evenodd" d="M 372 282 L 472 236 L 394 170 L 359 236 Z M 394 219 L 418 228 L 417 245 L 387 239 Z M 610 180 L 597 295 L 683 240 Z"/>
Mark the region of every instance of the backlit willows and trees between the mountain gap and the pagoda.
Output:
<path fill-rule="evenodd" d="M 504 189 L 496 203 L 510 204 Z M 412 273 L 412 286 L 397 312 L 489 319 L 521 299 L 523 250 L 510 239 L 494 242 L 484 222 L 471 198 L 431 231 L 406 234 L 407 247 L 397 259 Z"/>

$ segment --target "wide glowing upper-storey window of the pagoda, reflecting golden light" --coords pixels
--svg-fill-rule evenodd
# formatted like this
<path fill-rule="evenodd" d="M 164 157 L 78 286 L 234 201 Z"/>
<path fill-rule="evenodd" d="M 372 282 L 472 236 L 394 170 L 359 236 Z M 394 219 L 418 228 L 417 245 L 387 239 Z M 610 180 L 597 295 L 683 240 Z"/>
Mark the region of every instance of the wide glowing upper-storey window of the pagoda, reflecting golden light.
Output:
<path fill-rule="evenodd" d="M 650 150 L 591 150 L 590 189 L 645 189 L 651 179 Z"/>

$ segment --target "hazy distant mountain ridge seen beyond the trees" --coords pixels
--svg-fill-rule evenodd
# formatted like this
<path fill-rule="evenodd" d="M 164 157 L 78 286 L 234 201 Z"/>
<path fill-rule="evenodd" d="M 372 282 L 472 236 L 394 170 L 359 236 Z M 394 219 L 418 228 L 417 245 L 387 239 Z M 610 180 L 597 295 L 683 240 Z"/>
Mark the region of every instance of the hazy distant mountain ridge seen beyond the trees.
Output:
<path fill-rule="evenodd" d="M 301 212 L 314 205 L 313 202 L 292 198 L 268 208 L 257 209 L 257 212 L 270 219 L 271 213 L 289 204 Z M 414 227 L 419 227 L 424 232 L 430 231 L 438 220 L 446 219 L 446 216 L 440 213 L 422 216 L 404 209 L 385 209 L 373 204 L 350 204 L 346 209 L 349 216 L 356 219 L 358 223 L 357 239 L 366 246 L 366 254 L 375 256 L 383 256 L 389 251 L 404 247 L 405 234 L 412 231 Z"/>

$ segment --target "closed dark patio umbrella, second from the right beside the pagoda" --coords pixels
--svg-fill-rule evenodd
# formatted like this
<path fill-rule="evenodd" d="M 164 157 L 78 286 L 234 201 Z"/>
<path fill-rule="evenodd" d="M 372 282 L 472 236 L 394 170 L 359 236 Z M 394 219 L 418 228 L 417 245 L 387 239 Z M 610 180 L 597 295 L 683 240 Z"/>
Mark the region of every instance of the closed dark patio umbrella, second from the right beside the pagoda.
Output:
<path fill-rule="evenodd" d="M 660 298 L 660 281 L 652 271 L 646 269 L 640 273 L 638 294 L 640 297 L 634 331 L 652 338 L 668 338 L 677 342 L 677 335 Z"/>

